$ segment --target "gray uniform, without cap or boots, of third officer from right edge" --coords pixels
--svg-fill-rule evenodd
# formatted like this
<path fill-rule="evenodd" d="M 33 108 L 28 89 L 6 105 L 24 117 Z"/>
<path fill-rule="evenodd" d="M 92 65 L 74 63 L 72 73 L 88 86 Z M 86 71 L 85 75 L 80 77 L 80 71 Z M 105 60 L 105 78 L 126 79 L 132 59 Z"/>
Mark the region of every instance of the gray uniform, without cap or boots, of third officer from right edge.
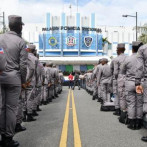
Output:
<path fill-rule="evenodd" d="M 126 60 L 125 54 L 120 54 L 114 61 L 114 76 L 117 79 L 117 91 L 118 101 L 120 103 L 120 109 L 126 109 L 126 97 L 125 97 L 125 75 L 121 73 L 123 63 Z"/>

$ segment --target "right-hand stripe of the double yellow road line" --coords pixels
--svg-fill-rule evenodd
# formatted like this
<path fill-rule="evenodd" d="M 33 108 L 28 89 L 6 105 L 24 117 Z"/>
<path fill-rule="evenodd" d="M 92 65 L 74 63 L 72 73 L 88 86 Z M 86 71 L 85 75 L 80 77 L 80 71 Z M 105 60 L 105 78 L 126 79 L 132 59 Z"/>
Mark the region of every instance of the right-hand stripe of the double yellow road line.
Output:
<path fill-rule="evenodd" d="M 73 91 L 72 91 L 72 108 L 73 108 L 72 110 L 73 110 L 74 147 L 82 147 Z"/>

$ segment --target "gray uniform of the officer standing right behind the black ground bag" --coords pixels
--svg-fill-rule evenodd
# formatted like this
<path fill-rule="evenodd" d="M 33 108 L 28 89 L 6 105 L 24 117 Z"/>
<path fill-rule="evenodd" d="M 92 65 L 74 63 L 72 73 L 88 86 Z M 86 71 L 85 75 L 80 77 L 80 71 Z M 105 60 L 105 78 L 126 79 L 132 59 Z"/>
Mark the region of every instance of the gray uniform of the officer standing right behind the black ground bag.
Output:
<path fill-rule="evenodd" d="M 102 99 L 103 102 L 110 102 L 110 94 L 111 94 L 111 83 L 112 83 L 112 75 L 110 66 L 108 64 L 103 65 L 99 69 L 98 77 L 97 77 L 98 84 L 101 83 L 101 92 L 102 92 Z"/>

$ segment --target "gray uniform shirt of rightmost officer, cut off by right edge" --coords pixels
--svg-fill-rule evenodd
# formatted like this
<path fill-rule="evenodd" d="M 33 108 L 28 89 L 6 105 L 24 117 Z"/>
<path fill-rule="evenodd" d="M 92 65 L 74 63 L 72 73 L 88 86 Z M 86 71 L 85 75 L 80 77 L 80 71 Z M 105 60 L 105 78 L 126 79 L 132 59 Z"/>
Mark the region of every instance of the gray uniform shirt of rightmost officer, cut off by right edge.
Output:
<path fill-rule="evenodd" d="M 142 78 L 147 78 L 147 44 L 141 46 L 137 53 L 135 84 L 140 85 Z"/>

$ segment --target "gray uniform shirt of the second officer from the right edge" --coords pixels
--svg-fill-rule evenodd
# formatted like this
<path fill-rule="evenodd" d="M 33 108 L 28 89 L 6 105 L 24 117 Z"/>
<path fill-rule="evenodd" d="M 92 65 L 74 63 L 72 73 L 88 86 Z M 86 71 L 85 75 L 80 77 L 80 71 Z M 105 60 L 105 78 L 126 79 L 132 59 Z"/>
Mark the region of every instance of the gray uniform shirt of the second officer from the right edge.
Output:
<path fill-rule="evenodd" d="M 126 75 L 126 79 L 130 81 L 135 81 L 136 74 L 136 63 L 137 63 L 137 54 L 134 53 L 128 57 L 123 66 L 121 73 Z"/>

